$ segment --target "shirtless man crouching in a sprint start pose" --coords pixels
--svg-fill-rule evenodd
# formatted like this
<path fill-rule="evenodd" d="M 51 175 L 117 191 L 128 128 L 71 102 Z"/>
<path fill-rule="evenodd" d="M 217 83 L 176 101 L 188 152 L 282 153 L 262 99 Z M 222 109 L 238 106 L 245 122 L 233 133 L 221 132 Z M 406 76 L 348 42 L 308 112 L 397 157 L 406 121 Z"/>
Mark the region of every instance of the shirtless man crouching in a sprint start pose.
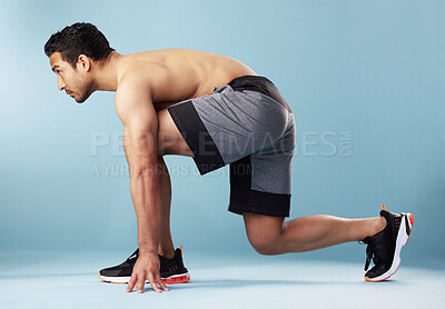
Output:
<path fill-rule="evenodd" d="M 189 280 L 170 236 L 171 187 L 165 154 L 191 157 L 205 175 L 230 165 L 229 211 L 244 217 L 251 246 L 281 255 L 364 241 L 374 267 L 367 281 L 398 269 L 413 215 L 383 207 L 379 217 L 316 215 L 285 221 L 290 208 L 294 114 L 275 84 L 246 64 L 211 52 L 166 49 L 119 54 L 90 23 L 75 23 L 44 46 L 59 90 L 78 103 L 97 90 L 116 91 L 138 221 L 139 248 L 99 277 L 160 292 Z"/>

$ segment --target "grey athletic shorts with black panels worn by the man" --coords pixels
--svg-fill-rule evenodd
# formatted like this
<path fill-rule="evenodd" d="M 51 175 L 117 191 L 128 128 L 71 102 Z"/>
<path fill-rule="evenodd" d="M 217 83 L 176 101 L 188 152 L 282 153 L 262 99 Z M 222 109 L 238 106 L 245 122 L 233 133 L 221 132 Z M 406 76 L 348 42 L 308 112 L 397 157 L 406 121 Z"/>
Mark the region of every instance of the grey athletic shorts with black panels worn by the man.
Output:
<path fill-rule="evenodd" d="M 168 111 L 200 175 L 230 165 L 229 211 L 289 216 L 295 119 L 269 79 L 239 77 Z"/>

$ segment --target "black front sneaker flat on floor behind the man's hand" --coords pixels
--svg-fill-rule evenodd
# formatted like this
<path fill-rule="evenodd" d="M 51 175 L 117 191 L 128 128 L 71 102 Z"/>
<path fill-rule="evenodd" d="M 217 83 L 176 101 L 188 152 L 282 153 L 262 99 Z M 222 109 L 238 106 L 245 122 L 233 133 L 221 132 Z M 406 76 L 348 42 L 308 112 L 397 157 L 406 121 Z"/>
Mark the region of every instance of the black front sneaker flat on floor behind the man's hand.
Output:
<path fill-rule="evenodd" d="M 132 268 L 139 257 L 139 248 L 122 263 L 99 271 L 99 278 L 111 283 L 128 283 Z M 182 262 L 182 246 L 175 250 L 171 259 L 159 256 L 160 277 L 166 283 L 184 283 L 190 280 L 187 268 Z"/>

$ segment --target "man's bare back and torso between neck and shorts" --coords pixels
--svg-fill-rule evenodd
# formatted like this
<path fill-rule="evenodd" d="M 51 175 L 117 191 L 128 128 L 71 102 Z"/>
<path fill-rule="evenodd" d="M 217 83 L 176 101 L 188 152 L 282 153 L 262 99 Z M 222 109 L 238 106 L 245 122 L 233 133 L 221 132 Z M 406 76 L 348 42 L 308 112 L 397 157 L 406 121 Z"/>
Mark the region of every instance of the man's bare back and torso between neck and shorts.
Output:
<path fill-rule="evenodd" d="M 156 110 L 176 102 L 211 94 L 215 87 L 240 76 L 256 76 L 246 64 L 212 52 L 164 49 L 122 56 L 117 64 L 118 83 L 129 74 L 150 80 Z"/>

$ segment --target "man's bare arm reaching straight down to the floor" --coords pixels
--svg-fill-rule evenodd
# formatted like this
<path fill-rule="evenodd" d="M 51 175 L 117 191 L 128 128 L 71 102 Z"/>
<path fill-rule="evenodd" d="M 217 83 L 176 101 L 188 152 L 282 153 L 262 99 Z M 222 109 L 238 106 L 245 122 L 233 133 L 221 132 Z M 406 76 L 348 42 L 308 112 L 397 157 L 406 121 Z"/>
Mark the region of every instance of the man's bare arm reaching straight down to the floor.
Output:
<path fill-rule="evenodd" d="M 158 118 L 147 81 L 122 80 L 116 92 L 116 110 L 123 122 L 123 149 L 130 170 L 131 198 L 138 220 L 139 258 L 127 291 L 142 292 L 146 279 L 160 292 L 168 290 L 159 275 L 158 245 L 161 222 Z"/>

